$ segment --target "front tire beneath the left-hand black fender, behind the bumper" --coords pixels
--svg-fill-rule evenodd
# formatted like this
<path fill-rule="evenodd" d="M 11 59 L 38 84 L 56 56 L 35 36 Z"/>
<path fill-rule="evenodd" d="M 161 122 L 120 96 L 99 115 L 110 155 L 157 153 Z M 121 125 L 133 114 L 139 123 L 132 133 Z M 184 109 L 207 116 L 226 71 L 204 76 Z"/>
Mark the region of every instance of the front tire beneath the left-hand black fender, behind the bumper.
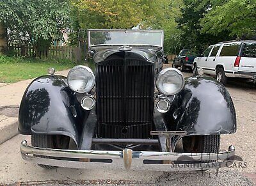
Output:
<path fill-rule="evenodd" d="M 31 135 L 32 146 L 42 147 L 42 148 L 56 148 L 56 149 L 68 149 L 69 137 L 61 135 L 45 135 L 45 134 L 32 134 Z M 42 155 L 34 155 L 35 157 L 45 157 Z M 45 169 L 54 169 L 54 166 L 47 166 L 38 164 L 38 166 Z"/>

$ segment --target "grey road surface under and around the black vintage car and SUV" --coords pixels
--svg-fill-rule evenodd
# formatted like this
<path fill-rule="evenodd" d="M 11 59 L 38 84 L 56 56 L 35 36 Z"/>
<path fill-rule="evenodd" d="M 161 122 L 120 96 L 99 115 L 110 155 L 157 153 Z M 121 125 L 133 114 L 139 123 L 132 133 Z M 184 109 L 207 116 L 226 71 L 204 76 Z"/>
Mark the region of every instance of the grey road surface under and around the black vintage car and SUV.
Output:
<path fill-rule="evenodd" d="M 164 67 L 171 64 L 164 65 Z M 191 72 L 185 72 L 185 77 Z M 230 82 L 227 89 L 237 112 L 236 134 L 221 136 L 221 149 L 230 144 L 246 163 L 246 167 L 190 173 L 163 173 L 159 171 L 118 171 L 118 169 L 44 170 L 20 158 L 19 143 L 26 136 L 16 136 L 0 145 L 0 185 L 253 185 L 248 173 L 256 178 L 256 88 L 252 85 Z M 256 182 L 255 182 L 256 183 Z"/>

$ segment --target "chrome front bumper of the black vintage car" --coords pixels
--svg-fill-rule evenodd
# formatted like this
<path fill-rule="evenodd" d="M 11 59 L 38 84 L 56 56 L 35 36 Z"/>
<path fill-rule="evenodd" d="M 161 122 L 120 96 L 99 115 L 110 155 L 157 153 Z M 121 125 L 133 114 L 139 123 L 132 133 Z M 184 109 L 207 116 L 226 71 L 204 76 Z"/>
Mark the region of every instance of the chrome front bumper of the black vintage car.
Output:
<path fill-rule="evenodd" d="M 219 153 L 171 153 L 159 151 L 104 151 L 104 150 L 57 150 L 28 146 L 26 140 L 20 144 L 20 152 L 24 160 L 36 164 L 44 164 L 57 167 L 69 167 L 77 169 L 132 169 L 152 171 L 195 171 L 204 169 L 218 169 L 231 166 L 235 155 L 234 146 L 228 151 Z M 33 155 L 47 156 L 34 157 Z M 56 157 L 57 159 L 54 159 Z M 66 158 L 68 160 L 61 160 Z M 69 160 L 72 159 L 72 160 Z M 90 159 L 108 159 L 111 163 L 90 162 Z M 163 160 L 163 164 L 148 164 L 144 160 Z M 173 164 L 173 161 L 181 161 L 182 164 Z M 216 162 L 189 164 L 188 160 L 215 160 Z M 156 163 L 156 162 L 155 162 Z M 124 166 L 123 166 L 124 165 Z"/>

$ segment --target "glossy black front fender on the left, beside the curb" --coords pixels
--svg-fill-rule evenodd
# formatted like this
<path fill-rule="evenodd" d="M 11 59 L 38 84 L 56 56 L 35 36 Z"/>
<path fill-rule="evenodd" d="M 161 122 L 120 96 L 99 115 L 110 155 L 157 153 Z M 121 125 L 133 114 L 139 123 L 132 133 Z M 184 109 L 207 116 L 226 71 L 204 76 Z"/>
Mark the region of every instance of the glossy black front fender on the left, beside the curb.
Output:
<path fill-rule="evenodd" d="M 75 112 L 76 110 L 76 112 Z M 19 109 L 20 134 L 59 134 L 74 139 L 77 146 L 89 111 L 81 108 L 67 77 L 38 77 L 26 89 Z"/>

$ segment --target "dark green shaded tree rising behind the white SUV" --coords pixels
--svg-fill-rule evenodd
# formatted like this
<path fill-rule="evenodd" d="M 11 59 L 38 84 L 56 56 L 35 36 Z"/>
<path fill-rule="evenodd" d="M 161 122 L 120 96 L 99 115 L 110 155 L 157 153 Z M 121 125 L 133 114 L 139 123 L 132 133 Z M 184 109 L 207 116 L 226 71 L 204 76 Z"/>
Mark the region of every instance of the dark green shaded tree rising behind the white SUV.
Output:
<path fill-rule="evenodd" d="M 182 30 L 182 40 L 180 40 L 180 49 L 192 49 L 195 52 L 203 52 L 206 47 L 211 44 L 234 39 L 228 31 L 220 31 L 218 34 L 202 32 L 202 24 L 200 20 L 205 14 L 216 6 L 221 5 L 220 0 L 184 0 L 184 8 L 182 8 L 182 17 L 178 20 L 179 28 Z M 176 50 L 176 53 L 179 52 Z"/>

